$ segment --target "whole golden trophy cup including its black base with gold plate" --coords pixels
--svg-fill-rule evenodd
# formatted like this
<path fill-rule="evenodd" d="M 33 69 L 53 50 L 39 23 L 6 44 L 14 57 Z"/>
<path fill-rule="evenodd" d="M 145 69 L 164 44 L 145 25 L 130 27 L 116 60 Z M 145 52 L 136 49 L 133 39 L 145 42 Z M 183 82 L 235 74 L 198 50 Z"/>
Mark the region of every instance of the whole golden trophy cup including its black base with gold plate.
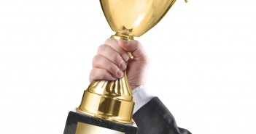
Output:
<path fill-rule="evenodd" d="M 176 0 L 100 0 L 112 38 L 133 40 L 154 27 Z M 131 56 L 131 54 L 129 54 Z M 131 56 L 132 57 L 132 56 Z M 69 112 L 64 134 L 134 134 L 133 96 L 126 71 L 115 81 L 95 80 L 84 91 L 77 112 Z"/>

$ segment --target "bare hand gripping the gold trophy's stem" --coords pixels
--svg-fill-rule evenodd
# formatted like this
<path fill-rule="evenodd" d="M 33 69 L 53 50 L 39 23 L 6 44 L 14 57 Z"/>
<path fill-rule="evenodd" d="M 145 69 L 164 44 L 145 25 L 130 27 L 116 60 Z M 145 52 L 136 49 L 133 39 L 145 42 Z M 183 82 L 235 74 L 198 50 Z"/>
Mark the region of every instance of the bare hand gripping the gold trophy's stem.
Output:
<path fill-rule="evenodd" d="M 129 59 L 127 52 L 131 52 L 133 59 Z M 128 61 L 128 67 L 125 62 Z M 147 80 L 149 59 L 139 41 L 117 41 L 108 38 L 105 44 L 98 47 L 93 57 L 93 69 L 90 71 L 90 82 L 93 80 L 116 80 L 123 77 L 127 70 L 128 82 L 133 90 L 143 85 Z"/>

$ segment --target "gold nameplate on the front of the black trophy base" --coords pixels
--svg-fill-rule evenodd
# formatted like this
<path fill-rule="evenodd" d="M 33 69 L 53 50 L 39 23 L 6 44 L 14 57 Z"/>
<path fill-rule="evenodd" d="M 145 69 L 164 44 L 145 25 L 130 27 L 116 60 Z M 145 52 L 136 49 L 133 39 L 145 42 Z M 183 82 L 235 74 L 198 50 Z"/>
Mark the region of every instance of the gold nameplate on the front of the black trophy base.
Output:
<path fill-rule="evenodd" d="M 82 122 L 77 122 L 77 130 L 75 134 L 125 134 L 116 130 L 110 130 L 96 125 L 88 125 Z"/>

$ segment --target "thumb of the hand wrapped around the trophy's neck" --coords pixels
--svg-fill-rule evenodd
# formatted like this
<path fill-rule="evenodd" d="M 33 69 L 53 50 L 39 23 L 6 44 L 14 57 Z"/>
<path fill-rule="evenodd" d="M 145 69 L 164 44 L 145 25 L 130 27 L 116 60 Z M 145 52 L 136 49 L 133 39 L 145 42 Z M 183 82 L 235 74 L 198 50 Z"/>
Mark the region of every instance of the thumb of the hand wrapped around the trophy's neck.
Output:
<path fill-rule="evenodd" d="M 122 49 L 127 52 L 131 52 L 133 58 L 147 58 L 146 51 L 144 50 L 143 46 L 139 41 L 132 40 L 132 41 L 124 41 L 119 40 L 118 44 Z"/>

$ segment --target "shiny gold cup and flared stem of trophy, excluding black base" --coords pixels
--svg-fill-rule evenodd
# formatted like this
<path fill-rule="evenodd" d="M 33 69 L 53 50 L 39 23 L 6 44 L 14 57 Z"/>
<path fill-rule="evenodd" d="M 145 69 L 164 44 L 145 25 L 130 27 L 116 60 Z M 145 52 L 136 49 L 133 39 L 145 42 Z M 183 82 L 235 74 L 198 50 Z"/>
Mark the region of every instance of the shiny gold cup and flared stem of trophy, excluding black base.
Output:
<path fill-rule="evenodd" d="M 133 40 L 155 26 L 176 0 L 100 0 L 112 38 Z M 130 57 L 131 53 L 129 54 Z M 95 80 L 84 92 L 77 111 L 121 123 L 133 123 L 133 96 L 126 71 L 115 81 Z"/>

